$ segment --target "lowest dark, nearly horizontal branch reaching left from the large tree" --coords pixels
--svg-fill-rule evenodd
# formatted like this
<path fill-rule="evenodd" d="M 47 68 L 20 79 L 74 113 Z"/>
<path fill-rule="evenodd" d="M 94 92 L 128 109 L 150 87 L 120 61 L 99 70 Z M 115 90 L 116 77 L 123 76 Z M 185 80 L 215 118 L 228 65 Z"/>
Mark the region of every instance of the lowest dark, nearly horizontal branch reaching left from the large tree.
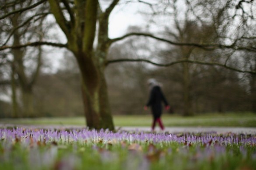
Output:
<path fill-rule="evenodd" d="M 60 43 L 52 43 L 52 42 L 29 42 L 27 44 L 21 44 L 21 45 L 14 45 L 14 46 L 2 46 L 0 47 L 0 51 L 3 51 L 5 49 L 15 49 L 15 48 L 24 48 L 24 47 L 35 47 L 38 45 L 49 45 L 49 46 L 53 46 L 53 47 L 59 47 L 59 48 L 67 48 L 67 44 L 60 44 Z"/>

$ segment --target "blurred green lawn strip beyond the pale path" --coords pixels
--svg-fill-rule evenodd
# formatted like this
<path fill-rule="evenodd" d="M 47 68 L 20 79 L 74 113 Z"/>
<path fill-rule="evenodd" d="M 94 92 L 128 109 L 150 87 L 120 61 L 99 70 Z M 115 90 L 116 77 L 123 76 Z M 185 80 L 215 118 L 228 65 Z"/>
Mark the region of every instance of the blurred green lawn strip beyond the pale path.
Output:
<path fill-rule="evenodd" d="M 151 115 L 113 116 L 115 126 L 150 126 Z M 193 117 L 179 115 L 162 116 L 165 126 L 238 126 L 256 127 L 255 113 L 205 114 Z M 51 117 L 34 119 L 0 119 L 0 124 L 14 125 L 85 125 L 84 117 Z"/>

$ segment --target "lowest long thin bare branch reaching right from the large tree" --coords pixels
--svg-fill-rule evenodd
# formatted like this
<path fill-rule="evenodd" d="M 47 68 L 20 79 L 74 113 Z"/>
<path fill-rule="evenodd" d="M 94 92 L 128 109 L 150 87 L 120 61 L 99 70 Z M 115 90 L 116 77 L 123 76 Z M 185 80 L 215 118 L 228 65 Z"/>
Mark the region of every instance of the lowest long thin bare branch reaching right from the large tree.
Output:
<path fill-rule="evenodd" d="M 233 70 L 233 71 L 237 71 L 237 72 L 241 72 L 241 73 L 250 73 L 250 74 L 256 74 L 255 71 L 247 71 L 247 70 L 240 70 L 239 68 L 233 68 L 233 67 L 229 67 L 227 65 L 223 65 L 221 63 L 217 63 L 217 62 L 204 62 L 204 61 L 197 61 L 197 60 L 189 60 L 189 59 L 181 59 L 181 60 L 177 60 L 177 61 L 173 61 L 167 64 L 160 64 L 160 63 L 156 63 L 150 60 L 146 60 L 146 59 L 114 59 L 114 60 L 108 60 L 106 65 L 112 64 L 112 63 L 118 63 L 118 62 L 146 62 L 152 65 L 156 65 L 156 66 L 161 66 L 161 67 L 169 67 L 171 65 L 175 65 L 178 63 L 184 63 L 184 62 L 188 62 L 188 63 L 193 63 L 193 64 L 199 64 L 199 65 L 211 65 L 211 66 L 220 66 L 223 68 L 227 68 L 229 70 Z"/>

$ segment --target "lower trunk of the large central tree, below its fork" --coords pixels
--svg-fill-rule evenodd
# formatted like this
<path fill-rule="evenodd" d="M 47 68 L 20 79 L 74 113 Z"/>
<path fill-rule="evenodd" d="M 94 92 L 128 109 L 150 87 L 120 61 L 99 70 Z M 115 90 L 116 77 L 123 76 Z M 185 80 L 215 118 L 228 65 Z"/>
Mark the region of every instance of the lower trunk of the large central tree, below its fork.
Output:
<path fill-rule="evenodd" d="M 90 129 L 114 130 L 104 76 L 104 66 L 85 55 L 76 56 L 82 75 L 83 105 Z"/>

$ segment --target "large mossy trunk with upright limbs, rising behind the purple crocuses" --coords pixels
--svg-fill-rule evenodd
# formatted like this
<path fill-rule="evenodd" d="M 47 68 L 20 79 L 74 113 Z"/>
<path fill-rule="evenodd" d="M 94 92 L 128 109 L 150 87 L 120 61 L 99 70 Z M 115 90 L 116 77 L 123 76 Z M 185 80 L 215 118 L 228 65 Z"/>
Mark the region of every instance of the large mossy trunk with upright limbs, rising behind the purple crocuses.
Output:
<path fill-rule="evenodd" d="M 113 0 L 105 12 L 98 7 L 97 0 L 75 0 L 73 10 L 64 3 L 70 16 L 70 22 L 68 22 L 66 14 L 62 13 L 60 3 L 56 0 L 48 0 L 57 23 L 68 39 L 67 48 L 75 55 L 80 68 L 84 112 L 86 124 L 90 129 L 114 129 L 104 67 L 110 45 L 108 17 L 118 1 Z M 93 42 L 97 21 L 100 26 L 95 49 Z"/>

